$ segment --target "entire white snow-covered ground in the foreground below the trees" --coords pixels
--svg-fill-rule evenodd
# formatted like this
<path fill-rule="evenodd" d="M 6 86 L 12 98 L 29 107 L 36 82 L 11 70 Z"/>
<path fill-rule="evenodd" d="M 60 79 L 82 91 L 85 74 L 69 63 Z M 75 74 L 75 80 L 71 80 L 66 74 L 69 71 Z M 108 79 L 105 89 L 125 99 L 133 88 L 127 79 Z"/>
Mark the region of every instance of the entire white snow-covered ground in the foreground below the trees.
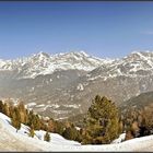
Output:
<path fill-rule="evenodd" d="M 60 152 L 103 152 L 103 151 L 152 151 L 153 136 L 137 138 L 133 140 L 120 142 L 125 133 L 111 144 L 104 145 L 81 145 L 79 142 L 69 141 L 57 133 L 50 133 L 50 142 L 43 141 L 43 130 L 35 131 L 36 136 L 30 138 L 28 127 L 22 125 L 16 132 L 10 125 L 10 118 L 0 114 L 0 151 L 60 151 Z"/>

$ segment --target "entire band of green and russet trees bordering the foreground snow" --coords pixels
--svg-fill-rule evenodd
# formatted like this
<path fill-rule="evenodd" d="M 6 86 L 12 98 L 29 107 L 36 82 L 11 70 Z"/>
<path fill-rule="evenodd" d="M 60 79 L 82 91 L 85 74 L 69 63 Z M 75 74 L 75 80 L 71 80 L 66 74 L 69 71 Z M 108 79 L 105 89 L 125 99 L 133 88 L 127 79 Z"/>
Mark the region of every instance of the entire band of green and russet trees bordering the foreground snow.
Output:
<path fill-rule="evenodd" d="M 13 106 L 12 103 L 0 101 L 0 111 L 11 118 L 11 125 L 16 128 L 16 132 L 21 123 L 30 127 L 30 137 L 35 136 L 35 130 L 45 130 L 45 141 L 51 140 L 49 132 L 59 133 L 82 144 L 109 144 L 122 132 L 126 132 L 126 140 L 153 133 L 153 106 L 120 110 L 115 103 L 99 95 L 93 99 L 80 129 L 69 120 L 45 119 L 26 109 L 23 102 Z"/>

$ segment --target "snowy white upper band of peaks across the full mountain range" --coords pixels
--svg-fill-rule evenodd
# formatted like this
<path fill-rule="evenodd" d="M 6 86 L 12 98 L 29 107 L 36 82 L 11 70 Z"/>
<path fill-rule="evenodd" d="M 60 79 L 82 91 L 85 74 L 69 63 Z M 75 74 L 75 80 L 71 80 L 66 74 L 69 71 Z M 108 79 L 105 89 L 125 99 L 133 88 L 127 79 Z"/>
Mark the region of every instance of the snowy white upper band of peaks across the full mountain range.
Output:
<path fill-rule="evenodd" d="M 106 76 L 141 74 L 142 70 L 148 72 L 153 69 L 153 52 L 133 51 L 121 59 L 102 59 L 84 51 L 57 55 L 38 52 L 21 59 L 0 59 L 0 71 L 15 71 L 22 79 L 51 74 L 60 70 L 92 71 L 96 68 L 105 71 Z"/>

